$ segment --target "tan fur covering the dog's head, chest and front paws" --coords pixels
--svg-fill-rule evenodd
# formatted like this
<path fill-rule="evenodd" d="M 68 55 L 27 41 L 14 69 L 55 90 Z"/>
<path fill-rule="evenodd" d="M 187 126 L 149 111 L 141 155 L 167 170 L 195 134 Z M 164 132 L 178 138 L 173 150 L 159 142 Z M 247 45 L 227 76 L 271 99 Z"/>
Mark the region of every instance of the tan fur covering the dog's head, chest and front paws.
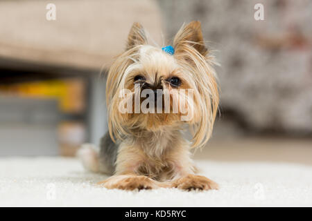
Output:
<path fill-rule="evenodd" d="M 199 21 L 193 21 L 177 32 L 173 41 L 174 55 L 147 45 L 144 29 L 134 23 L 128 36 L 126 51 L 116 58 L 107 77 L 107 109 L 112 140 L 119 142 L 116 173 L 101 182 L 108 189 L 217 189 L 206 177 L 193 175 L 196 171 L 190 148 L 204 146 L 211 136 L 218 110 L 218 85 L 214 57 L 209 54 L 202 38 Z M 186 107 L 194 110 L 187 122 L 183 113 L 120 113 L 121 90 L 135 93 L 134 78 L 141 75 L 148 85 L 159 85 L 171 98 L 184 98 L 180 90 L 166 79 L 179 77 L 179 88 L 193 89 L 193 101 Z M 134 98 L 130 102 L 134 102 Z M 173 99 L 171 99 L 173 100 Z M 140 100 L 141 102 L 141 100 Z M 182 135 L 189 126 L 193 140 Z"/>

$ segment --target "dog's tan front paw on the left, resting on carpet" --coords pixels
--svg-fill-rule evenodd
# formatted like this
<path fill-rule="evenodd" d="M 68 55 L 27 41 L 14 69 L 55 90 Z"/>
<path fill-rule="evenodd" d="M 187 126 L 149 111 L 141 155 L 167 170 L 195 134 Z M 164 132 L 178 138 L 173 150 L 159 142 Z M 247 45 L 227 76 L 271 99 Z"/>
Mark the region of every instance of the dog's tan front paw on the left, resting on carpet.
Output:
<path fill-rule="evenodd" d="M 107 189 L 123 189 L 128 191 L 135 189 L 156 189 L 158 187 L 155 181 L 145 175 L 115 175 L 103 182 L 98 182 L 98 184 Z"/>

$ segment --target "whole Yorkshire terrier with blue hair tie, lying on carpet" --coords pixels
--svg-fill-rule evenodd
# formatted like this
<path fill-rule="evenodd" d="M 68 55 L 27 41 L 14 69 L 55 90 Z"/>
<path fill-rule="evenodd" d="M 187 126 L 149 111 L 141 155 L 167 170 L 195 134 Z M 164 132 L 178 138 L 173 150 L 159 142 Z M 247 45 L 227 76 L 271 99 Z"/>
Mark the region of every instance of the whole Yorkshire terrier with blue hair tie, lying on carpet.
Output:
<path fill-rule="evenodd" d="M 173 46 L 162 49 L 148 45 L 144 28 L 133 24 L 107 76 L 109 131 L 100 150 L 85 144 L 79 151 L 89 171 L 112 175 L 101 186 L 218 189 L 196 175 L 190 157 L 209 140 L 218 111 L 214 64 L 199 21 L 182 26 Z"/>

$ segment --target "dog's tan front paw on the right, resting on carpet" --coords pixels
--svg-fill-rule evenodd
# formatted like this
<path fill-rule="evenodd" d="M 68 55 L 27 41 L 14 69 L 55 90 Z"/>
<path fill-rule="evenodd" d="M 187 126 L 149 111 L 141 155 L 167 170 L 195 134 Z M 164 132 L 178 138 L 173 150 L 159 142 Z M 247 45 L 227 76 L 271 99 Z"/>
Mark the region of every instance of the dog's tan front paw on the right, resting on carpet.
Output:
<path fill-rule="evenodd" d="M 189 174 L 173 181 L 172 187 L 183 189 L 187 191 L 201 190 L 206 191 L 209 189 L 219 189 L 216 182 L 209 180 L 202 175 Z"/>

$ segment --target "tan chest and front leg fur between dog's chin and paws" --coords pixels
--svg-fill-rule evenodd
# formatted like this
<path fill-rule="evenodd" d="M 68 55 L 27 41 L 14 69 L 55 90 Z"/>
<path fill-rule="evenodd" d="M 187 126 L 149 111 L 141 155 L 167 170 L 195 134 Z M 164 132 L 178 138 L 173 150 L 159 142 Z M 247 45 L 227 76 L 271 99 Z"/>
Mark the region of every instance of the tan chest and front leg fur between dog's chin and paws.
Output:
<path fill-rule="evenodd" d="M 168 137 L 169 136 L 169 137 Z M 122 143 L 116 161 L 116 174 L 136 173 L 158 181 L 193 173 L 189 144 L 181 139 L 180 131 L 160 133 L 159 139 L 151 135 Z M 162 151 L 160 151 L 162 149 Z"/>

